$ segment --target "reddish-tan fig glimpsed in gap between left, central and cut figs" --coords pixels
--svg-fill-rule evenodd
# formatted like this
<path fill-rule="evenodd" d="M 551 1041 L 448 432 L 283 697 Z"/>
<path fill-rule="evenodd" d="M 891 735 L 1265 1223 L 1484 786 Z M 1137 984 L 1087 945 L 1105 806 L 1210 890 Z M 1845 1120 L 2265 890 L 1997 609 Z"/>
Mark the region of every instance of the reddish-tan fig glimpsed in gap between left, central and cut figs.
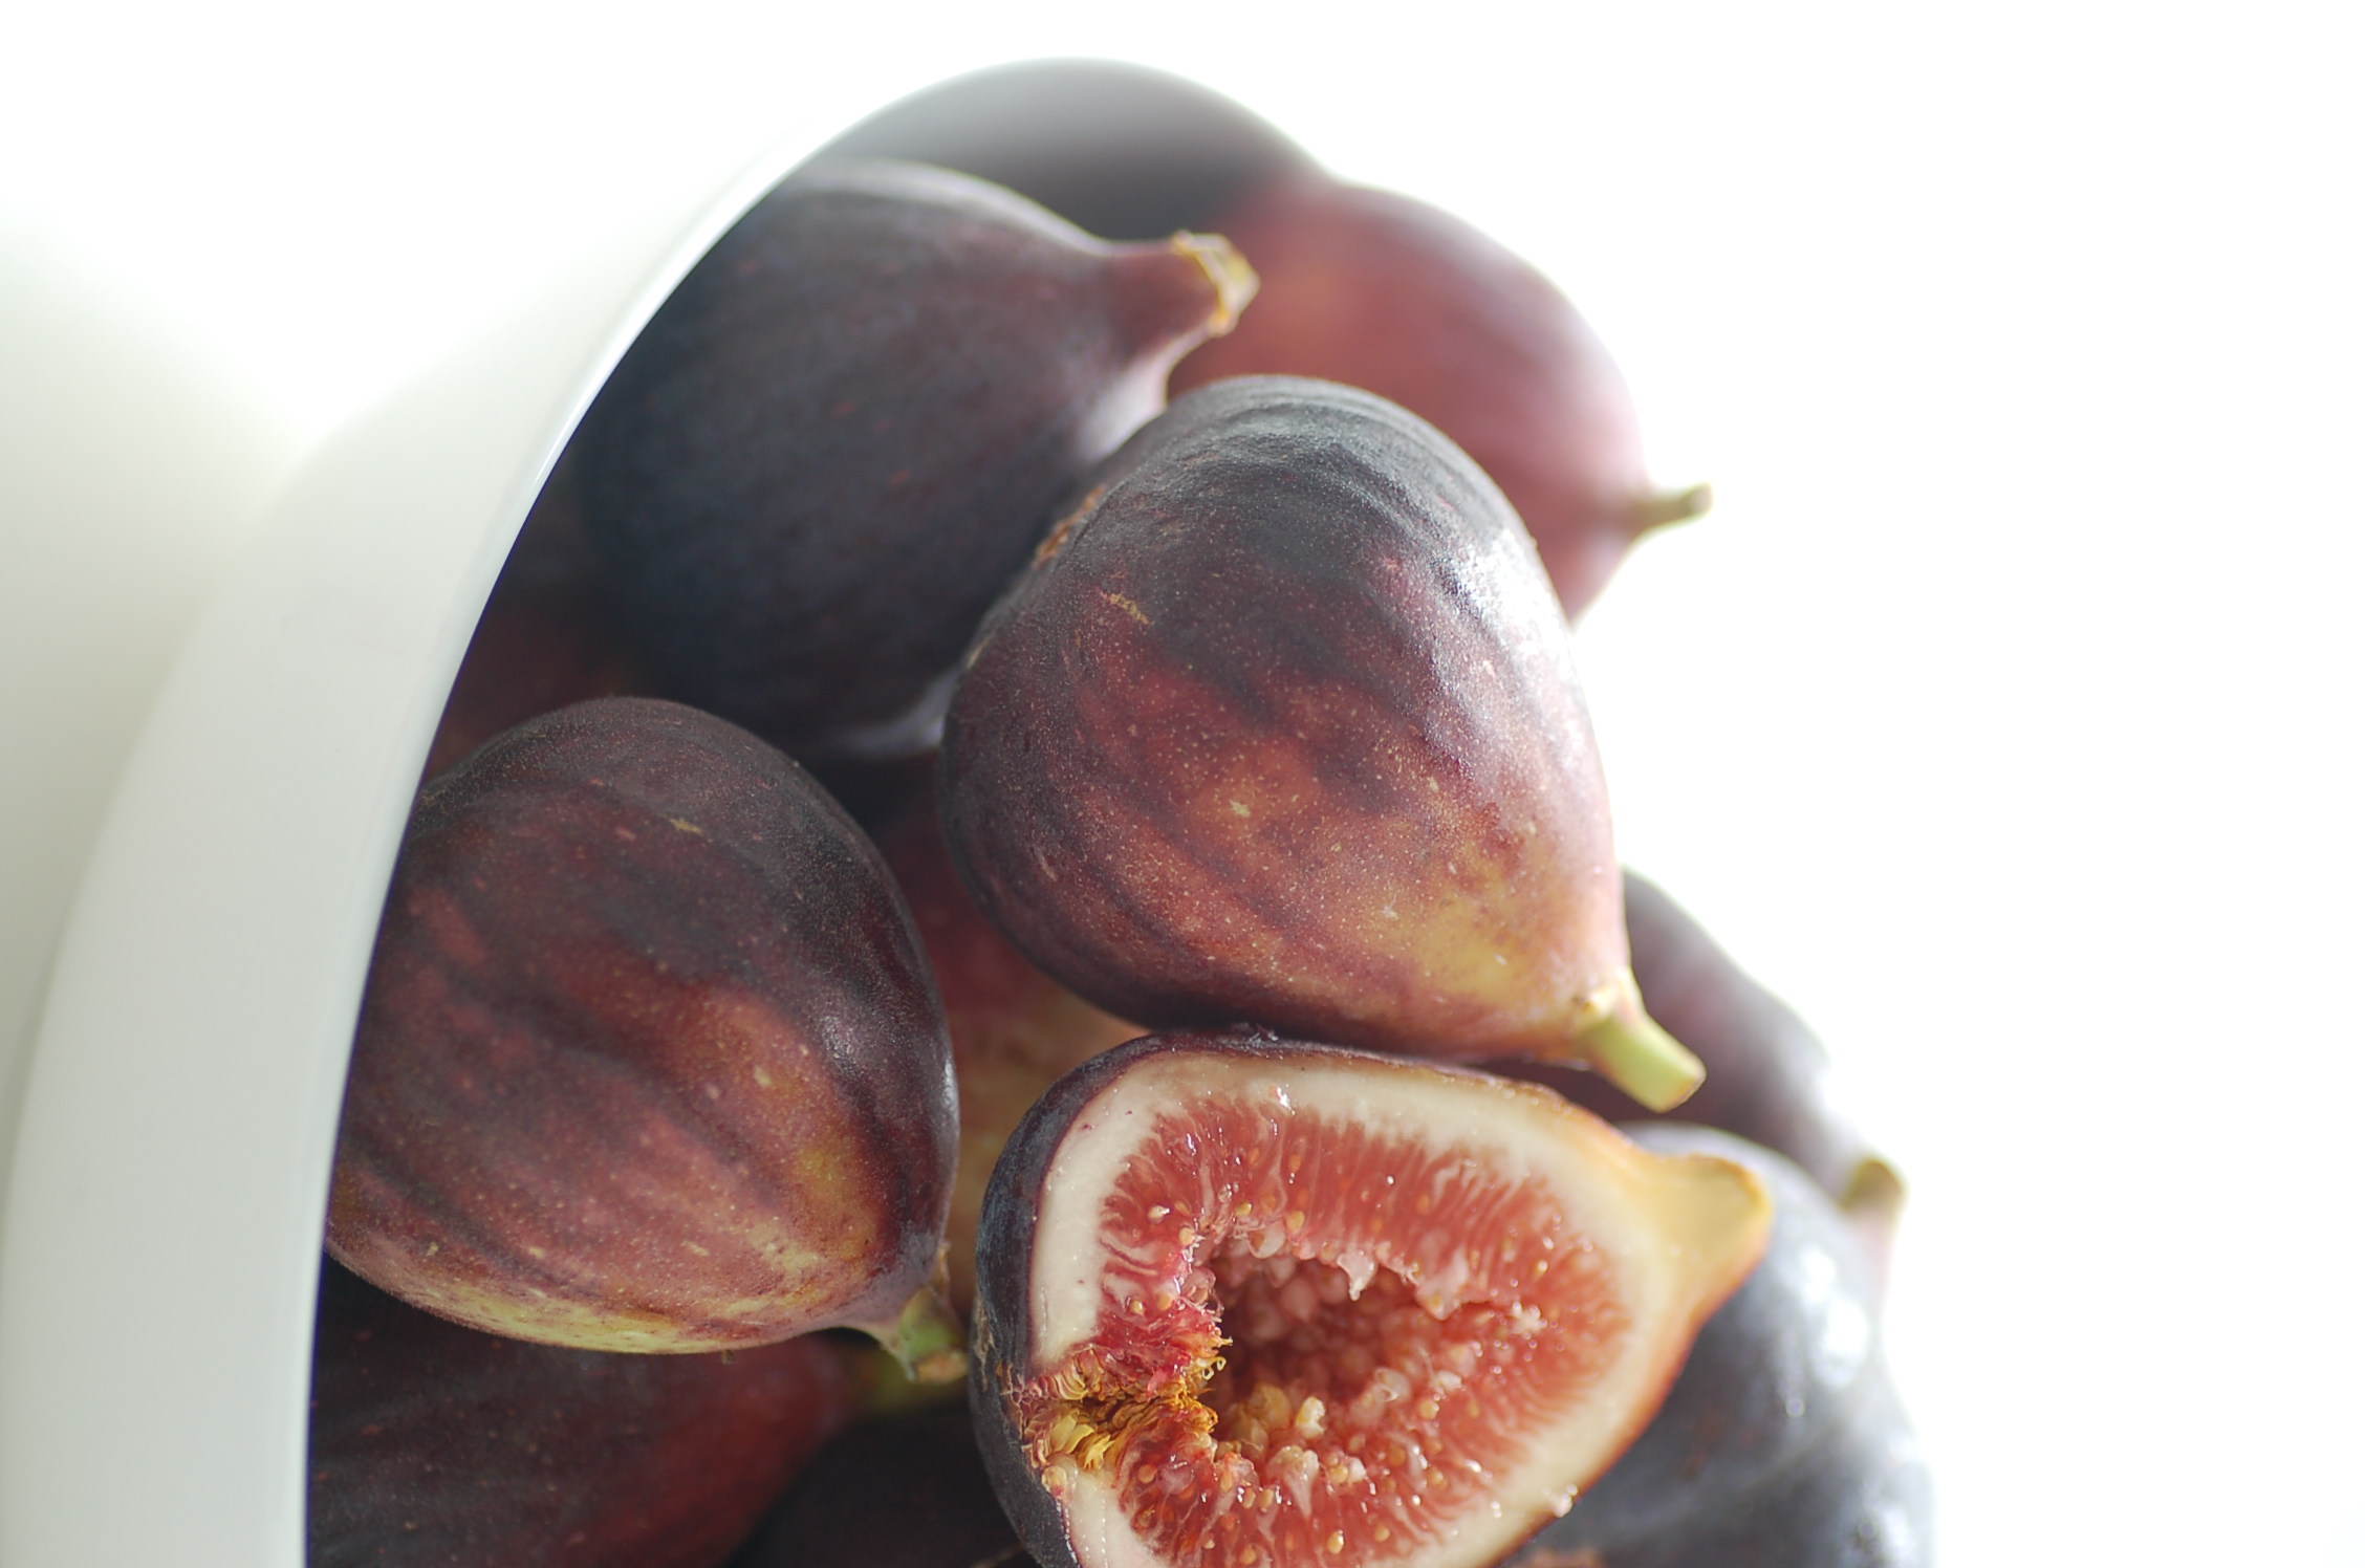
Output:
<path fill-rule="evenodd" d="M 934 792 L 922 792 L 889 821 L 877 844 L 920 927 L 953 1038 L 960 1168 L 944 1235 L 951 1303 L 967 1315 L 977 1294 L 977 1213 L 1010 1130 L 1062 1074 L 1142 1029 L 1026 963 L 986 920 L 944 851 Z"/>

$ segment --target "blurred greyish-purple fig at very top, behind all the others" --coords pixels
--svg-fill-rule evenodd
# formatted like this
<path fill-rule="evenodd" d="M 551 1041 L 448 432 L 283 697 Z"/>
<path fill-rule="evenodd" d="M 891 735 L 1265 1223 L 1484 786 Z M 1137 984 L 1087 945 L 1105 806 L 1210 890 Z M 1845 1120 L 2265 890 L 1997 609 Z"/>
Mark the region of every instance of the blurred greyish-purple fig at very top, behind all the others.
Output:
<path fill-rule="evenodd" d="M 1220 92 L 1114 59 L 972 71 L 880 109 L 818 156 L 955 168 L 1107 239 L 1209 229 L 1258 184 L 1315 168 Z"/>

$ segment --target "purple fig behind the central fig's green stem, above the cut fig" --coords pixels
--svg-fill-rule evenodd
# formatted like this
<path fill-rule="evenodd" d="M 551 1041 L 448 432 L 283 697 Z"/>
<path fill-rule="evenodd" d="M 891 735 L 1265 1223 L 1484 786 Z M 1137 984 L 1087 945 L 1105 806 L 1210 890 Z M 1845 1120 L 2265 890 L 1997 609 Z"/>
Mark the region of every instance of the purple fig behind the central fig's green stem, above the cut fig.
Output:
<path fill-rule="evenodd" d="M 1708 1067 L 1682 1119 L 1724 1128 L 1797 1164 L 1878 1246 L 1904 1204 L 1904 1180 L 1838 1102 L 1831 1052 L 1663 887 L 1625 873 L 1627 944 L 1651 1017 Z M 1608 1121 L 1644 1109 L 1596 1074 L 1551 1062 L 1490 1062 L 1544 1083 Z"/>

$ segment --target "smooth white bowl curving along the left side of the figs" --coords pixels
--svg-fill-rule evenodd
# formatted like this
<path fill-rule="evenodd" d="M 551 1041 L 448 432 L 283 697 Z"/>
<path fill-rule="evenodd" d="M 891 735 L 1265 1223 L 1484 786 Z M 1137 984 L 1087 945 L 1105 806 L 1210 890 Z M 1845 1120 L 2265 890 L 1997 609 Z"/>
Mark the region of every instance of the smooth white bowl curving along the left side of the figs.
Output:
<path fill-rule="evenodd" d="M 173 660 L 19 1062 L 0 1563 L 305 1561 L 329 1164 L 428 738 L 582 409 L 816 142 L 773 147 L 721 192 L 686 177 L 674 206 L 329 435 Z"/>

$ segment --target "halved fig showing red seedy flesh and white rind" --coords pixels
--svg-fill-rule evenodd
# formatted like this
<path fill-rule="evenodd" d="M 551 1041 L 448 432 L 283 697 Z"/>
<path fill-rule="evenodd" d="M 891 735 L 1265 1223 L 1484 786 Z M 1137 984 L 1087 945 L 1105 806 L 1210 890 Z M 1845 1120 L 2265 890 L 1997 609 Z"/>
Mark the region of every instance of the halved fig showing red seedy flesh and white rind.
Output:
<path fill-rule="evenodd" d="M 979 1443 L 1045 1568 L 1478 1568 L 1648 1424 L 1769 1223 L 1530 1086 L 1147 1036 L 993 1173 Z"/>

